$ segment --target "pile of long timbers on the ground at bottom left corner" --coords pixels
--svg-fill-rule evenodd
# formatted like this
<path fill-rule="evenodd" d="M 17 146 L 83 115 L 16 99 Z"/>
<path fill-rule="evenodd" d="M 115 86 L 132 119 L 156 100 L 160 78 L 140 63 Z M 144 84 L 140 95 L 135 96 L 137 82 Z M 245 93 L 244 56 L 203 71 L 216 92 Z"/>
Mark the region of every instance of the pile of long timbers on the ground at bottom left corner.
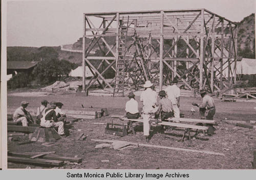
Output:
<path fill-rule="evenodd" d="M 12 152 L 8 151 L 8 162 L 33 164 L 37 166 L 63 166 L 65 162 L 82 162 L 81 158 L 52 155 L 51 152 Z"/>

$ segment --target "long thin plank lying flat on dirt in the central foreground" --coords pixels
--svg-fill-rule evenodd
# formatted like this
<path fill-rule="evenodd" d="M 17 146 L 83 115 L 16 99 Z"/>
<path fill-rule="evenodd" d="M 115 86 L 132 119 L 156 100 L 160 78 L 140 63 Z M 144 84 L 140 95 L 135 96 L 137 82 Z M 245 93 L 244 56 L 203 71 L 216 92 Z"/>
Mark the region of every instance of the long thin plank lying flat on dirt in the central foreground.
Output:
<path fill-rule="evenodd" d="M 108 140 L 108 139 L 91 139 L 91 141 L 110 142 L 110 143 L 116 142 L 116 140 Z M 184 148 L 177 148 L 177 147 L 159 146 L 159 145 L 153 145 L 153 144 L 138 144 L 138 143 L 127 142 L 127 141 L 123 141 L 123 142 L 129 143 L 131 145 L 139 145 L 139 146 L 144 146 L 144 147 L 155 147 L 155 148 L 162 148 L 162 149 L 172 149 L 172 150 L 187 151 L 187 152 L 207 153 L 209 155 L 225 156 L 223 153 L 212 152 L 212 151 L 207 151 L 207 150 L 184 149 Z"/>

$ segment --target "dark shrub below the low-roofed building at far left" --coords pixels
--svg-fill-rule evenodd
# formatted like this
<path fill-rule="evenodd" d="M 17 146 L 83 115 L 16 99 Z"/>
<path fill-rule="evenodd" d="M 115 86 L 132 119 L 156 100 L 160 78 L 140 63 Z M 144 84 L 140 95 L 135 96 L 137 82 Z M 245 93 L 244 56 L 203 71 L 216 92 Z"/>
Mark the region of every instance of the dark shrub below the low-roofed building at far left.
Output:
<path fill-rule="evenodd" d="M 17 88 L 24 88 L 30 85 L 30 78 L 28 74 L 24 72 L 20 72 L 14 75 L 8 82 L 7 88 L 8 89 L 17 89 Z"/>

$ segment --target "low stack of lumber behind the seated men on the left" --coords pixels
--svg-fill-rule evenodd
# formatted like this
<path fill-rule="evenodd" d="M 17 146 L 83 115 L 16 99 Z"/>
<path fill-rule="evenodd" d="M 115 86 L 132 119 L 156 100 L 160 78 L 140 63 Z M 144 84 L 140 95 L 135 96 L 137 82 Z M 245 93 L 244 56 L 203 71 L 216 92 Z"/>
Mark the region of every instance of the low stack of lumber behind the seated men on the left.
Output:
<path fill-rule="evenodd" d="M 30 112 L 31 116 L 35 118 L 37 108 L 26 108 Z M 11 115 L 14 113 L 16 108 L 8 108 L 7 114 Z M 67 117 L 77 119 L 96 119 L 101 116 L 108 116 L 108 110 L 106 108 L 62 108 L 63 112 L 66 113 Z"/>

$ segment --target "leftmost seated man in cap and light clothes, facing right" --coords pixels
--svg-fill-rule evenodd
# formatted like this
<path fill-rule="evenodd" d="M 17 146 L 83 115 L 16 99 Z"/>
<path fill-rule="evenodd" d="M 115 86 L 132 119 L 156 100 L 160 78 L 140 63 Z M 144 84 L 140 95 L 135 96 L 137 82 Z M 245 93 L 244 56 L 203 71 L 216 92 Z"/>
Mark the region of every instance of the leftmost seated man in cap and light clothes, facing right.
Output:
<path fill-rule="evenodd" d="M 29 102 L 22 101 L 22 106 L 17 108 L 13 113 L 13 121 L 15 124 L 22 124 L 23 126 L 28 126 L 29 123 L 34 123 L 34 120 L 30 113 L 25 109 L 28 107 Z"/>

